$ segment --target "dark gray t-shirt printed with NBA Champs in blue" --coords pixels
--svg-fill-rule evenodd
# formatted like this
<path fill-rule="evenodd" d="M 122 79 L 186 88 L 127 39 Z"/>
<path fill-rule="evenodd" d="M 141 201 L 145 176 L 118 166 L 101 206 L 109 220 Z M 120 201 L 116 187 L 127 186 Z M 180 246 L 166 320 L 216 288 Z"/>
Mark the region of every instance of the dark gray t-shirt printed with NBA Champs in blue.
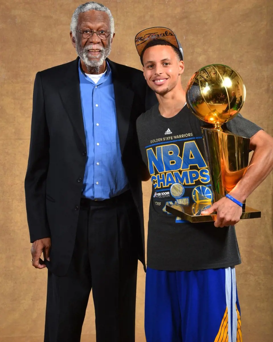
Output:
<path fill-rule="evenodd" d="M 183 184 L 183 197 L 190 203 L 198 187 L 211 192 L 200 128 L 203 124 L 187 106 L 174 117 L 164 118 L 158 104 L 137 120 L 142 159 L 152 181 L 147 242 L 150 268 L 190 271 L 241 263 L 234 226 L 189 223 L 166 211 L 166 205 L 175 203 L 170 193 L 174 183 Z M 261 129 L 241 115 L 226 126 L 232 133 L 249 138 Z"/>

